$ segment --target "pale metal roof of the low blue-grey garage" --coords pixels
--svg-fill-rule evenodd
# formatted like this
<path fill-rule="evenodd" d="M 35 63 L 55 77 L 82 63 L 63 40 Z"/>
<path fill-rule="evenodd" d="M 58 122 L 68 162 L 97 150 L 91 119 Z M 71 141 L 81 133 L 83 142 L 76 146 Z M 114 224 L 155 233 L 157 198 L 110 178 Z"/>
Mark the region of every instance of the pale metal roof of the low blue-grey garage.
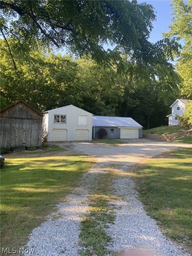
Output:
<path fill-rule="evenodd" d="M 131 117 L 117 117 L 117 116 L 93 116 L 93 126 L 106 126 L 106 127 L 138 127 L 142 128 Z"/>

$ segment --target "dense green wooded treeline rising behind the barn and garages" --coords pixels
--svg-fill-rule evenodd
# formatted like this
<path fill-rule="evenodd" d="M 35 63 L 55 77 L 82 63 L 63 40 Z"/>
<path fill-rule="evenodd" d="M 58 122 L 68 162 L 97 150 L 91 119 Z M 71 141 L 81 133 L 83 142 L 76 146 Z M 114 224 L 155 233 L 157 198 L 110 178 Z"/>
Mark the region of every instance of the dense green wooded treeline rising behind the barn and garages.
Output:
<path fill-rule="evenodd" d="M 180 92 L 163 84 L 70 55 L 15 52 L 15 70 L 1 40 L 1 108 L 20 99 L 39 111 L 73 104 L 94 115 L 132 117 L 145 128 L 167 125 L 170 105 Z"/>

